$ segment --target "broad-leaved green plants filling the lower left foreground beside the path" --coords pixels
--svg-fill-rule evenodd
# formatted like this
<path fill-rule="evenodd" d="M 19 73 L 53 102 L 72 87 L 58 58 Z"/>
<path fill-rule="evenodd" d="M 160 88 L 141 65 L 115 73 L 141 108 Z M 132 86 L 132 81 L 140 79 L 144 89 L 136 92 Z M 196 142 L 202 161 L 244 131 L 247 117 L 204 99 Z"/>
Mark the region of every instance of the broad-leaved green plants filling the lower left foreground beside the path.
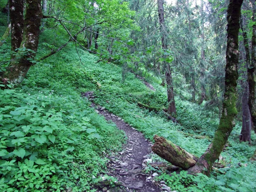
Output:
<path fill-rule="evenodd" d="M 91 112 L 82 116 L 67 98 L 52 94 L 0 90 L 3 191 L 78 190 L 78 186 L 89 191 L 92 179 L 86 174 L 97 175 L 104 166 L 105 160 L 95 152 L 103 141 Z"/>

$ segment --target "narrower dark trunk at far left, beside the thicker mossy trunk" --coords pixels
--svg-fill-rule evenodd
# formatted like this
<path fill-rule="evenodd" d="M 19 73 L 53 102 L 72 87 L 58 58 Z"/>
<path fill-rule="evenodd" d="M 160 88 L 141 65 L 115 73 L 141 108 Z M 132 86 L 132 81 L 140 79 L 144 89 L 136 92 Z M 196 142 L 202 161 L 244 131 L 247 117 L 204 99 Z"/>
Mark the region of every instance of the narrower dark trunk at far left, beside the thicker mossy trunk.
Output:
<path fill-rule="evenodd" d="M 23 17 L 23 0 L 10 0 L 10 18 L 12 42 L 11 51 L 17 52 L 23 38 L 24 17 Z M 15 54 L 11 55 L 11 59 L 15 58 Z"/>

